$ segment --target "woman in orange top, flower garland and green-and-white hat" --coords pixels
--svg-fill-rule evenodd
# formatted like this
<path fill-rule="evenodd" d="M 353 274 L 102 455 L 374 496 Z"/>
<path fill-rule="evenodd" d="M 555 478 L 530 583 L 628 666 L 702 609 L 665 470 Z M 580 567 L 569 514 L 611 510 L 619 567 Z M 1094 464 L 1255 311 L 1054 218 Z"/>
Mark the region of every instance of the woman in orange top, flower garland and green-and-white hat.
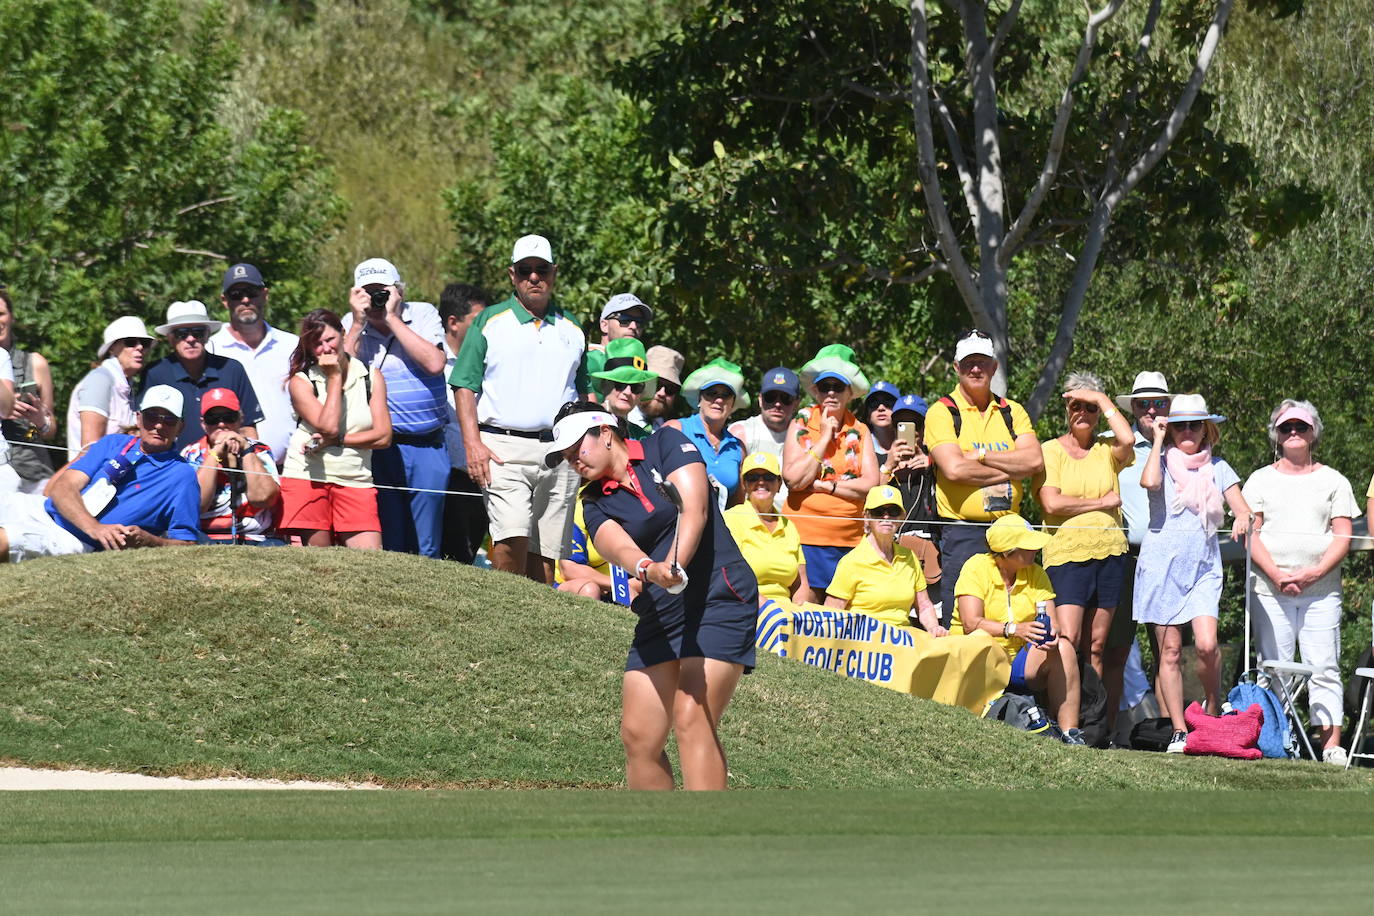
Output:
<path fill-rule="evenodd" d="M 868 427 L 848 407 L 868 393 L 853 350 L 842 343 L 822 347 L 801 368 L 801 380 L 816 405 L 802 408 L 787 431 L 783 515 L 797 525 L 807 580 L 822 597 L 840 558 L 863 538 L 863 504 L 878 485 L 878 459 Z"/>

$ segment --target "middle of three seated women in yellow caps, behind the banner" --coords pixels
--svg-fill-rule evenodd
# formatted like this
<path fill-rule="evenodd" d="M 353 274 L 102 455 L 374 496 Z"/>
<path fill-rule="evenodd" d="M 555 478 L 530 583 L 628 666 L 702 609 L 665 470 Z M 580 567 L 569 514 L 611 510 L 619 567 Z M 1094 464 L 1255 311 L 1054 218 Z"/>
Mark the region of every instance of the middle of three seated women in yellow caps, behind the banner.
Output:
<path fill-rule="evenodd" d="M 921 574 L 916 555 L 897 547 L 897 529 L 907 515 L 901 492 L 875 486 L 864 500 L 864 536 L 859 547 L 845 553 L 830 581 L 826 607 L 859 611 L 892 626 L 911 626 L 915 608 L 921 625 L 932 636 L 944 636 Z"/>

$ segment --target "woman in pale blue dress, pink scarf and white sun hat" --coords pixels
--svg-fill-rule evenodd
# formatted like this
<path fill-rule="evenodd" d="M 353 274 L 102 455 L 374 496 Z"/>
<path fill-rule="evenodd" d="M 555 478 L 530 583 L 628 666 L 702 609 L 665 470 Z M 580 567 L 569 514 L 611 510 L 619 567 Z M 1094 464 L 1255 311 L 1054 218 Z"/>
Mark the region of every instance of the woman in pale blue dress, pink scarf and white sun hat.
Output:
<path fill-rule="evenodd" d="M 1221 501 L 1235 514 L 1231 540 L 1245 536 L 1250 509 L 1241 494 L 1241 478 L 1212 455 L 1221 438 L 1201 394 L 1179 394 L 1169 416 L 1154 422 L 1154 439 L 1140 486 L 1150 493 L 1150 527 L 1135 570 L 1135 619 L 1156 630 L 1160 647 L 1160 696 L 1173 720 L 1168 751 L 1182 754 L 1189 726 L 1183 718 L 1183 626 L 1191 625 L 1198 678 L 1206 692 L 1206 711 L 1221 714 L 1221 652 L 1216 643 L 1221 600 Z"/>

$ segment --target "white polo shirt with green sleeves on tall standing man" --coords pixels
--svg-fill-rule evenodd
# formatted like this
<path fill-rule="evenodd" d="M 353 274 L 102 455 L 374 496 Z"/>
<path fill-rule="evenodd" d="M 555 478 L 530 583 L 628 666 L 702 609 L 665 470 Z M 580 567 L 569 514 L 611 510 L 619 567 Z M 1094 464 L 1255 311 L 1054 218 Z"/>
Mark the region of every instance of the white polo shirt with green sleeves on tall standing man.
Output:
<path fill-rule="evenodd" d="M 463 338 L 448 383 L 477 393 L 477 422 L 537 433 L 587 391 L 581 327 L 555 305 L 536 319 L 514 297 L 482 309 Z"/>

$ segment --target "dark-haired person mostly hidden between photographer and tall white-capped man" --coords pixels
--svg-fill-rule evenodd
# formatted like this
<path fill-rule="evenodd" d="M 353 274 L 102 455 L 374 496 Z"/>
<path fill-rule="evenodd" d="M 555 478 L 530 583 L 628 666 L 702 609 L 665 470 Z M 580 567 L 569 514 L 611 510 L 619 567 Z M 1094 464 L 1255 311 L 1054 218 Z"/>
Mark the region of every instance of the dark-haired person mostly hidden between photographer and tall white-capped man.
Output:
<path fill-rule="evenodd" d="M 492 304 L 481 288 L 467 283 L 449 283 L 438 297 L 438 319 L 444 323 L 444 378 L 453 371 L 458 352 L 467 330 L 482 309 Z M 486 540 L 486 507 L 482 489 L 467 475 L 467 449 L 463 448 L 463 427 L 458 423 L 453 400 L 445 404 L 448 422 L 444 424 L 444 446 L 448 449 L 448 493 L 444 496 L 444 544 L 447 560 L 473 563 Z"/>

